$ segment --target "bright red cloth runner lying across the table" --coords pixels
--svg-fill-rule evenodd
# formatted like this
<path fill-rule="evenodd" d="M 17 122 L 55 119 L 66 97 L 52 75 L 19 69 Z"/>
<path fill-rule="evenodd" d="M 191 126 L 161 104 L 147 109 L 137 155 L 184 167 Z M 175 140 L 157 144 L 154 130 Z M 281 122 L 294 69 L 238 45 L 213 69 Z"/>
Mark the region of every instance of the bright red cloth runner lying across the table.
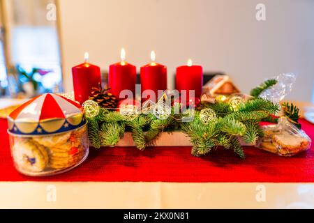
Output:
<path fill-rule="evenodd" d="M 301 123 L 313 141 L 314 125 Z M 314 182 L 314 146 L 294 157 L 246 147 L 246 160 L 223 148 L 205 157 L 193 157 L 187 147 L 91 148 L 80 167 L 32 178 L 13 167 L 6 128 L 0 119 L 0 181 Z"/>

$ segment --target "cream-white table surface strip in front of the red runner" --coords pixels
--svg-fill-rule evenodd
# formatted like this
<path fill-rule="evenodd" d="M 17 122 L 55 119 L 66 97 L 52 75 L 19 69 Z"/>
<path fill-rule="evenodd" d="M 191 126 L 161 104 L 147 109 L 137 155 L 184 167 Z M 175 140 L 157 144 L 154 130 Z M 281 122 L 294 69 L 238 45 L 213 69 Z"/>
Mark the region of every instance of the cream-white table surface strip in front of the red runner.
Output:
<path fill-rule="evenodd" d="M 0 208 L 314 208 L 314 184 L 1 182 L 0 197 Z"/>

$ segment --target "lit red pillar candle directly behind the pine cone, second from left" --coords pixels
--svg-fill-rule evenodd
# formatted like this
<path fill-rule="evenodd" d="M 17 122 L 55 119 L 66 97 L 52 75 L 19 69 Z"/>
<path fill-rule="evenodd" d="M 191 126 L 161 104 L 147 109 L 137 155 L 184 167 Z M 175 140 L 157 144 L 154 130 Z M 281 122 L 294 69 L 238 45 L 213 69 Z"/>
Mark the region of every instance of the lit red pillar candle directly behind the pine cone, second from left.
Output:
<path fill-rule="evenodd" d="M 127 93 L 127 98 L 135 98 L 135 84 L 136 84 L 136 67 L 125 61 L 126 51 L 121 49 L 121 62 L 110 65 L 108 85 L 111 88 L 110 93 L 119 99 L 126 98 L 121 91 L 129 90 L 133 95 Z"/>

